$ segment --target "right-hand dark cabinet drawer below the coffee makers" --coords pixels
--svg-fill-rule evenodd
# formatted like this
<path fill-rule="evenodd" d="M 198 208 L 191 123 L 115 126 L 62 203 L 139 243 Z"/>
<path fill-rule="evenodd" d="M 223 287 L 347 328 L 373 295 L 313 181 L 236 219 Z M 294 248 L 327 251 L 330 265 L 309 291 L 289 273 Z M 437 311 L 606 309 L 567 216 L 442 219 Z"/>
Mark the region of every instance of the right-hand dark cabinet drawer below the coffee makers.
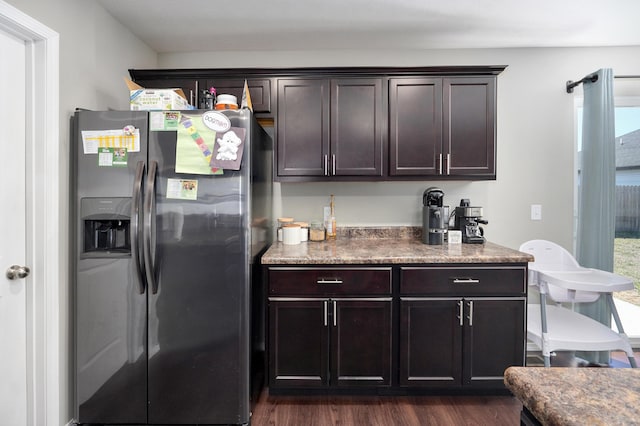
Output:
<path fill-rule="evenodd" d="M 400 294 L 516 296 L 526 294 L 526 268 L 402 267 Z"/>

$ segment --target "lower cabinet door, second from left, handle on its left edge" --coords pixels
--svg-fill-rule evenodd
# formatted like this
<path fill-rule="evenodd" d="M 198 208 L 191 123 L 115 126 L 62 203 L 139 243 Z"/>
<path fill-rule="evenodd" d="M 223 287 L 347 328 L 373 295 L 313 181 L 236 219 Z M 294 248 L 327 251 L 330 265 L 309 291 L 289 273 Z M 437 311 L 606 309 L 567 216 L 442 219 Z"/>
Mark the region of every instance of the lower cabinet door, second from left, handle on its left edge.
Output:
<path fill-rule="evenodd" d="M 390 386 L 391 297 L 329 303 L 332 386 Z"/>

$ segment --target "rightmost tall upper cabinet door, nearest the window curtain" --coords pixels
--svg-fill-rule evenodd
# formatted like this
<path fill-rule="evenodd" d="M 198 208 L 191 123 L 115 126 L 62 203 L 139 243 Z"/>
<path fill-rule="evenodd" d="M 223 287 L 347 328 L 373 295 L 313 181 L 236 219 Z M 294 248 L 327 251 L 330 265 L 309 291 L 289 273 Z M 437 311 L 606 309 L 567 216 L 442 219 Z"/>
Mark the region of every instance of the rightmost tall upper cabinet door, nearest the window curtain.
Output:
<path fill-rule="evenodd" d="M 445 174 L 496 177 L 495 77 L 443 79 Z"/>

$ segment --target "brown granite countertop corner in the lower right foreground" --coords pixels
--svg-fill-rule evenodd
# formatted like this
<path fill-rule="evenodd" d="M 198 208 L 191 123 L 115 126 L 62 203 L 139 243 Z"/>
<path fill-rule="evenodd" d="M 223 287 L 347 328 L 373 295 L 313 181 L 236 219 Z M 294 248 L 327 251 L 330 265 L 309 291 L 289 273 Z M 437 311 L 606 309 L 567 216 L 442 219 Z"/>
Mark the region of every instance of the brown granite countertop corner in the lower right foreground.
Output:
<path fill-rule="evenodd" d="M 640 369 L 509 367 L 504 382 L 543 425 L 640 425 Z"/>

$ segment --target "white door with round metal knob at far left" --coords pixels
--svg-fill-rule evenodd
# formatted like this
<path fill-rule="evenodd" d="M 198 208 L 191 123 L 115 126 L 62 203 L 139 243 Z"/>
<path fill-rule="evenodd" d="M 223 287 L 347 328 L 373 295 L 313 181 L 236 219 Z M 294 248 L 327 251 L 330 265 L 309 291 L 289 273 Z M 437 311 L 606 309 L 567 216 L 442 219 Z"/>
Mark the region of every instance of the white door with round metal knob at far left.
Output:
<path fill-rule="evenodd" d="M 25 43 L 0 30 L 0 423 L 27 424 Z M 8 60 L 10 58 L 10 60 Z M 10 100 L 10 101 L 9 101 Z"/>

